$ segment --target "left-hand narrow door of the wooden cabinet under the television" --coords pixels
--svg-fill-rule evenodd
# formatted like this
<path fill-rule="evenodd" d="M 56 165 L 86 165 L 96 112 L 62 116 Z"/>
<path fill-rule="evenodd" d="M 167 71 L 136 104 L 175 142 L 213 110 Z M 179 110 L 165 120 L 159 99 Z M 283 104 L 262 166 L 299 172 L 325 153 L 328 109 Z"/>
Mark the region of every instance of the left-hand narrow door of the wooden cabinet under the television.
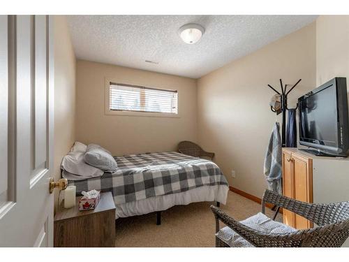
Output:
<path fill-rule="evenodd" d="M 295 198 L 294 175 L 292 172 L 292 156 L 283 151 L 283 196 Z M 283 223 L 295 227 L 295 213 L 283 209 Z"/>

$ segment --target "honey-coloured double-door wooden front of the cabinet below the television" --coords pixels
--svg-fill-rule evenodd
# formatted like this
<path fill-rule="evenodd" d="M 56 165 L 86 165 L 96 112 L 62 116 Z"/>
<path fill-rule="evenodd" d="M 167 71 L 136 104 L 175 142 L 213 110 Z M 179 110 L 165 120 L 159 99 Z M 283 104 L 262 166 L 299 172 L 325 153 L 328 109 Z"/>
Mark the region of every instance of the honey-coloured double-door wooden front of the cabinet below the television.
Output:
<path fill-rule="evenodd" d="M 283 195 L 313 203 L 313 161 L 311 158 L 283 149 Z M 297 229 L 311 228 L 311 221 L 283 210 L 283 222 Z"/>

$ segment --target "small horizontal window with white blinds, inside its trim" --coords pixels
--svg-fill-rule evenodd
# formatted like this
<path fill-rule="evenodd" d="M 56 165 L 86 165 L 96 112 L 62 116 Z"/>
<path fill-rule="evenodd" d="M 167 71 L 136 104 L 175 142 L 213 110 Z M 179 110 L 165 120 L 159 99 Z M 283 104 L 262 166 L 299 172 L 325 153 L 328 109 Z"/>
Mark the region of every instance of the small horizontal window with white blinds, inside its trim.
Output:
<path fill-rule="evenodd" d="M 109 110 L 177 115 L 177 90 L 109 83 Z"/>

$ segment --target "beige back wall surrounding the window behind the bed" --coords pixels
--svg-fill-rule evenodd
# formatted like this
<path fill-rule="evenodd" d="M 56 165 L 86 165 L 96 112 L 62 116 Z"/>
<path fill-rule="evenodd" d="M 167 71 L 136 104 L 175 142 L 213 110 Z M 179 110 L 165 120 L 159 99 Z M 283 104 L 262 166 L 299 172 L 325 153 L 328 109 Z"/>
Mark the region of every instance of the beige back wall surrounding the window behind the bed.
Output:
<path fill-rule="evenodd" d="M 177 89 L 180 117 L 105 115 L 105 78 Z M 76 139 L 114 155 L 176 150 L 181 140 L 197 140 L 196 81 L 190 78 L 78 60 L 76 108 Z"/>

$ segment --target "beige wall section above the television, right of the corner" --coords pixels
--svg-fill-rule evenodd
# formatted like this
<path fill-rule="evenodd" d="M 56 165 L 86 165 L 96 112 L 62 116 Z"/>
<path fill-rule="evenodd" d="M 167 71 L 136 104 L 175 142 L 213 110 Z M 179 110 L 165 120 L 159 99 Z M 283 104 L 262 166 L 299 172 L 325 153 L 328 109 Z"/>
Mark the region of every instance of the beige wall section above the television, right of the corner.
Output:
<path fill-rule="evenodd" d="M 322 15 L 316 20 L 316 84 L 336 76 L 349 78 L 349 15 Z"/>

